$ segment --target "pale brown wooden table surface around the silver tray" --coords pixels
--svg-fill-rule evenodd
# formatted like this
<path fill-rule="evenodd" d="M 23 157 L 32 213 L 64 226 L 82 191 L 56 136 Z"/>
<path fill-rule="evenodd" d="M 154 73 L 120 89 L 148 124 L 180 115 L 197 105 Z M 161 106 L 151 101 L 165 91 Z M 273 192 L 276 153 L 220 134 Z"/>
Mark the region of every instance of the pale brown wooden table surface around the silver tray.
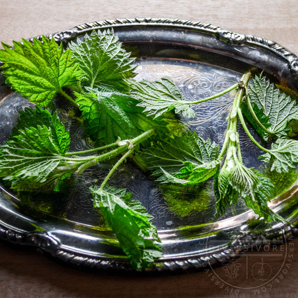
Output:
<path fill-rule="evenodd" d="M 95 20 L 151 16 L 200 20 L 262 36 L 298 55 L 297 6 L 297 0 L 0 0 L 0 41 L 11 44 Z M 120 277 L 66 268 L 35 251 L 0 244 L 0 297 L 298 297 L 298 239 L 289 245 L 291 266 L 272 250 L 263 254 L 262 262 L 273 271 L 287 272 L 254 291 L 239 290 L 255 286 L 243 276 L 231 287 L 221 286 L 216 280 L 225 278 L 222 267 L 213 273 Z M 238 264 L 246 266 L 246 258 Z"/>

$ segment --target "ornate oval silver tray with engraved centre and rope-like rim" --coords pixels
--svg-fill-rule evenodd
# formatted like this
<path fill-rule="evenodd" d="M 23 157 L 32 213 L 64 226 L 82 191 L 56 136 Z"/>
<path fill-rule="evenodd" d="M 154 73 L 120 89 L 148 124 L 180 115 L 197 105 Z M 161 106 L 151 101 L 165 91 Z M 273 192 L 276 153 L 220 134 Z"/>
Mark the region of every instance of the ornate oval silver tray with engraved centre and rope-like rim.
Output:
<path fill-rule="evenodd" d="M 273 41 L 236 34 L 202 22 L 163 18 L 105 20 L 48 37 L 53 36 L 67 47 L 70 40 L 82 38 L 93 29 L 105 28 L 113 28 L 124 47 L 138 58 L 137 78 L 168 76 L 188 100 L 216 94 L 237 82 L 247 71 L 263 70 L 272 81 L 298 92 L 298 57 L 293 53 Z M 232 95 L 226 94 L 198 105 L 196 118 L 185 121 L 203 138 L 221 144 L 232 99 Z M 64 102 L 57 104 L 71 132 L 71 150 L 89 148 L 88 140 L 82 137 L 82 129 L 69 116 L 71 108 Z M 34 105 L 5 85 L 0 74 L 0 144 L 16 124 L 17 111 L 26 106 Z M 262 169 L 257 159 L 260 152 L 241 130 L 239 134 L 244 163 Z M 28 194 L 17 198 L 11 190 L 0 185 L 0 238 L 39 247 L 57 260 L 74 266 L 112 272 L 132 271 L 121 249 L 114 245 L 115 235 L 104 228 L 94 212 L 88 192 L 91 184 L 103 179 L 108 168 L 108 165 L 95 166 L 74 178 L 68 195 L 39 197 Z M 281 193 L 276 193 L 270 207 L 295 223 L 298 171 L 295 169 L 288 176 L 291 179 L 282 179 L 278 187 Z M 280 177 L 271 178 L 281 180 Z M 146 272 L 185 271 L 203 268 L 207 263 L 222 264 L 256 241 L 268 244 L 274 239 L 286 240 L 298 234 L 294 224 L 281 223 L 267 226 L 261 233 L 253 232 L 249 220 L 255 215 L 242 200 L 223 218 L 213 222 L 213 181 L 205 183 L 199 193 L 192 189 L 157 188 L 149 175 L 127 163 L 111 184 L 134 192 L 134 198 L 154 216 L 163 257 Z"/>

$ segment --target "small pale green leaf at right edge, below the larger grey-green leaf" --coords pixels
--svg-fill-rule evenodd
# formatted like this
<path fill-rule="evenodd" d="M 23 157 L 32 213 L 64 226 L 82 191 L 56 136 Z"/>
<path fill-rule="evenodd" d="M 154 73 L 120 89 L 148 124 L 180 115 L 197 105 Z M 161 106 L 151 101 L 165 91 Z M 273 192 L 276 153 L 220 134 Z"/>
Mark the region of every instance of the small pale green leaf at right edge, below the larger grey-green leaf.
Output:
<path fill-rule="evenodd" d="M 270 152 L 260 157 L 265 162 L 273 160 L 271 171 L 288 172 L 291 168 L 295 168 L 298 163 L 298 141 L 278 139 L 272 144 Z"/>

